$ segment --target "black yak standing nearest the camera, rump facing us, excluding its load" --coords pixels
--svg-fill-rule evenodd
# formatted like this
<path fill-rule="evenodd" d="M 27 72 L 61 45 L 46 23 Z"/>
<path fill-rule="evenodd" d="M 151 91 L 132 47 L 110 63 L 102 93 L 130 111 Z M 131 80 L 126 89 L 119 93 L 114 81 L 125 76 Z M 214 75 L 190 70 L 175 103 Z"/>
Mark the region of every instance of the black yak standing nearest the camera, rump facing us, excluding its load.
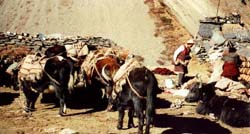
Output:
<path fill-rule="evenodd" d="M 142 134 L 146 117 L 145 133 L 148 134 L 150 124 L 153 124 L 156 95 L 159 91 L 156 77 L 152 71 L 141 66 L 132 68 L 124 80 L 121 91 L 117 92 L 113 88 L 112 94 L 109 95 L 109 106 L 112 106 L 109 109 L 116 109 L 119 112 L 117 129 L 122 129 L 124 113 L 128 109 L 128 128 L 135 127 L 133 122 L 135 114 L 139 119 L 138 133 Z"/>

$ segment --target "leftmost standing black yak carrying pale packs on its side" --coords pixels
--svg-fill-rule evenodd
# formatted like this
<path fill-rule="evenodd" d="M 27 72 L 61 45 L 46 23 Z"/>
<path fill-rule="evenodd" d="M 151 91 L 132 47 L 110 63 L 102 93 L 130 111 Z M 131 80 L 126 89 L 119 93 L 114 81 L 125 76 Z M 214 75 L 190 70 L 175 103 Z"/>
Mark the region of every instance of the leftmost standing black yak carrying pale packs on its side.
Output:
<path fill-rule="evenodd" d="M 27 58 L 30 55 L 27 55 Z M 54 56 L 45 60 L 44 67 L 40 62 L 34 62 L 33 68 L 41 66 L 41 70 L 38 71 L 39 75 L 34 75 L 35 71 L 32 68 L 25 68 L 25 59 L 18 72 L 18 80 L 20 88 L 22 89 L 26 98 L 26 112 L 35 110 L 35 102 L 40 93 L 47 89 L 50 85 L 55 89 L 56 97 L 59 99 L 60 109 L 59 115 L 66 113 L 66 94 L 69 89 L 73 88 L 73 62 L 70 59 L 65 59 L 61 56 Z M 22 71 L 22 69 L 24 71 Z M 39 68 L 35 68 L 39 70 Z M 35 70 L 33 69 L 33 70 Z M 24 74 L 23 72 L 27 72 Z M 33 72 L 33 74 L 32 74 Z"/>

